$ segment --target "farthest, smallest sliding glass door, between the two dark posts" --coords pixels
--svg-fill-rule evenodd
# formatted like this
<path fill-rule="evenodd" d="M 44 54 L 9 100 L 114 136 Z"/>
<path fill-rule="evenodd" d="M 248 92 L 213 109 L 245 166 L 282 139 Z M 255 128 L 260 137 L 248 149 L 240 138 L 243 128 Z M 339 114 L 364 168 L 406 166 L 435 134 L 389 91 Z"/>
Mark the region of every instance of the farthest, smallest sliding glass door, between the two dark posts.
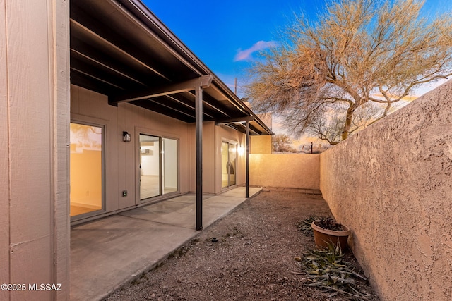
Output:
<path fill-rule="evenodd" d="M 237 183 L 237 144 L 221 144 L 221 187 L 227 188 Z"/>

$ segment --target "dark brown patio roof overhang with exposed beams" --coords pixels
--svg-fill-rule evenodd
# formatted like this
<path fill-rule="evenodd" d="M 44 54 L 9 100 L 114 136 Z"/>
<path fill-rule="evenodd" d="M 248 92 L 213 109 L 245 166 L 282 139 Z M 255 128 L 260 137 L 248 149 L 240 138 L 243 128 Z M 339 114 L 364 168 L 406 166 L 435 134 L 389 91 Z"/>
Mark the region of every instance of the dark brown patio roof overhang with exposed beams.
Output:
<path fill-rule="evenodd" d="M 71 0 L 71 83 L 187 123 L 196 122 L 193 82 L 203 86 L 203 121 L 250 135 L 271 130 L 138 0 Z M 201 26 L 201 25 L 200 25 Z M 201 83 L 202 84 L 202 83 Z"/>

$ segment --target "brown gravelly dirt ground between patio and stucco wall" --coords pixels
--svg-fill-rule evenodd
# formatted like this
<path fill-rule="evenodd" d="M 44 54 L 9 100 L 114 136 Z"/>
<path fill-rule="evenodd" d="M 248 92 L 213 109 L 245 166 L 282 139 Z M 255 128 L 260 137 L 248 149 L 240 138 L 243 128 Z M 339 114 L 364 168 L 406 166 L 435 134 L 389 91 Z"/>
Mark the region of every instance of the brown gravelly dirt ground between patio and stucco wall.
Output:
<path fill-rule="evenodd" d="M 264 190 L 105 300 L 350 300 L 304 285 L 295 257 L 314 238 L 295 224 L 311 215 L 331 216 L 321 195 Z M 347 260 L 357 265 L 351 253 Z M 357 284 L 379 300 L 367 281 Z"/>

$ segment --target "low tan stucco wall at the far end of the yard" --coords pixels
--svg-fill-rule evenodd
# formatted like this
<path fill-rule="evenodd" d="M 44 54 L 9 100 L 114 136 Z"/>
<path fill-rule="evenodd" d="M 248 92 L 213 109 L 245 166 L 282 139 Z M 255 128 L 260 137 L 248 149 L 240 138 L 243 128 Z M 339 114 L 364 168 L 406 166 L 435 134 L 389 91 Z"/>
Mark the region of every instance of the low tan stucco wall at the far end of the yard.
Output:
<path fill-rule="evenodd" d="M 249 159 L 250 185 L 319 189 L 319 154 L 250 154 Z"/>

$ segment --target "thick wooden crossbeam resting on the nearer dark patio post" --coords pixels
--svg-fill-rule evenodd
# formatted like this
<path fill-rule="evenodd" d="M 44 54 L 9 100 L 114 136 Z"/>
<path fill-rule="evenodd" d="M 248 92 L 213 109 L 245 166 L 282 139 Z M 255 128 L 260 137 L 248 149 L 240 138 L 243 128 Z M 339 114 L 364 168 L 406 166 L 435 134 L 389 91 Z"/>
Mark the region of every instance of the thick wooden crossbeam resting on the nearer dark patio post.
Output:
<path fill-rule="evenodd" d="M 187 80 L 186 82 L 179 82 L 177 84 L 171 84 L 162 87 L 153 87 L 138 92 L 125 93 L 116 97 L 109 97 L 109 104 L 117 104 L 119 102 L 132 102 L 139 99 L 148 99 L 163 95 L 187 92 L 195 90 L 196 87 L 201 87 L 204 89 L 210 86 L 212 79 L 212 75 L 203 75 L 199 78 L 194 78 L 193 80 Z"/>

